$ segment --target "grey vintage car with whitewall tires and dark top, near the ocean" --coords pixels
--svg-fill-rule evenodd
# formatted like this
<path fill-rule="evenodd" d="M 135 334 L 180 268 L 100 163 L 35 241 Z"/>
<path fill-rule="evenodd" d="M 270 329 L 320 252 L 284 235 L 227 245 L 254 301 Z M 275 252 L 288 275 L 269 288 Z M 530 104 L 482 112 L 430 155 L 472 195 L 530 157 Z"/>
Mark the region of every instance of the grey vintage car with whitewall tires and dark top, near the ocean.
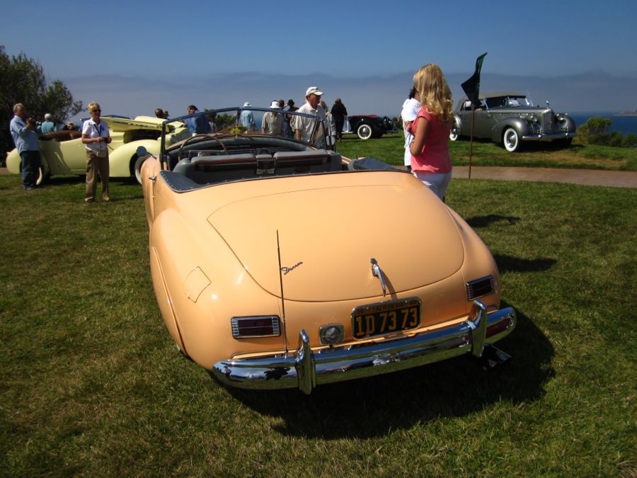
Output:
<path fill-rule="evenodd" d="M 509 152 L 520 150 L 524 141 L 559 141 L 570 144 L 577 134 L 575 121 L 566 113 L 555 113 L 548 105 L 533 106 L 523 93 L 486 91 L 480 93 L 474 118 L 474 137 L 502 143 Z M 471 135 L 471 101 L 458 102 L 449 139 Z"/>

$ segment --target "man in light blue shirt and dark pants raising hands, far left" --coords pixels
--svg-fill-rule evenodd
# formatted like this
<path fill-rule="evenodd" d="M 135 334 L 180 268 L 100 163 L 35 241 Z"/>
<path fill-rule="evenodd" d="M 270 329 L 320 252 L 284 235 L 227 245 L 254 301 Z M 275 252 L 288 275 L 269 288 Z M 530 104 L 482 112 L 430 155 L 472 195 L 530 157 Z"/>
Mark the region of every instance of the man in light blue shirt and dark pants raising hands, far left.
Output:
<path fill-rule="evenodd" d="M 22 187 L 24 190 L 35 188 L 40 168 L 40 149 L 38 146 L 37 125 L 28 118 L 22 103 L 13 106 L 13 119 L 9 123 L 13 142 L 22 161 Z"/>

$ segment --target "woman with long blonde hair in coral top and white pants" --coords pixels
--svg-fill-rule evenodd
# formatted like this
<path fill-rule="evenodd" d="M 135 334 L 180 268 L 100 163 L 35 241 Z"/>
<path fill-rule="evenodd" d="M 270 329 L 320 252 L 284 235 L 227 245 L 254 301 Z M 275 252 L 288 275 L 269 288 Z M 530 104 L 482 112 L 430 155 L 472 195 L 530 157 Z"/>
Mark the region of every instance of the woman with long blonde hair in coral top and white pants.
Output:
<path fill-rule="evenodd" d="M 411 125 L 411 171 L 444 200 L 452 178 L 447 143 L 454 119 L 452 93 L 442 70 L 433 63 L 425 64 L 415 72 L 413 85 L 420 95 L 422 107 Z"/>

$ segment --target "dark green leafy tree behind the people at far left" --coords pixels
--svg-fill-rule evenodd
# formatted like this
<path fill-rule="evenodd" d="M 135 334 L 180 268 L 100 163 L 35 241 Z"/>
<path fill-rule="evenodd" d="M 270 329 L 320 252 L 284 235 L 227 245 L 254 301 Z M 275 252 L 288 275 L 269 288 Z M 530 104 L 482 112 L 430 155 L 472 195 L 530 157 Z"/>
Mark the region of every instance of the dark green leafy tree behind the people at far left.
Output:
<path fill-rule="evenodd" d="M 8 124 L 16 103 L 23 103 L 28 114 L 36 120 L 51 113 L 60 123 L 82 110 L 82 102 L 73 100 L 62 81 L 55 80 L 47 85 L 44 70 L 38 62 L 24 53 L 9 57 L 0 45 L 0 152 L 13 149 Z"/>

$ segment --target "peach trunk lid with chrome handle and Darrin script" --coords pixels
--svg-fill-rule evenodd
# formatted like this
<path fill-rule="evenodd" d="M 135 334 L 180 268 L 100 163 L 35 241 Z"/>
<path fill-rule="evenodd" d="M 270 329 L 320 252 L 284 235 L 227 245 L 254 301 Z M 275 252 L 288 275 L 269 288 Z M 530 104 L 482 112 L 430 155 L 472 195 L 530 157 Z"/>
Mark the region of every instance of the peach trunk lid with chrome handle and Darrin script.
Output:
<path fill-rule="evenodd" d="M 360 174 L 379 181 L 343 179 Z M 263 289 L 280 297 L 282 285 L 287 300 L 363 299 L 382 295 L 372 258 L 388 295 L 461 267 L 464 247 L 454 220 L 413 176 L 339 173 L 317 180 L 233 200 L 207 219 Z"/>

